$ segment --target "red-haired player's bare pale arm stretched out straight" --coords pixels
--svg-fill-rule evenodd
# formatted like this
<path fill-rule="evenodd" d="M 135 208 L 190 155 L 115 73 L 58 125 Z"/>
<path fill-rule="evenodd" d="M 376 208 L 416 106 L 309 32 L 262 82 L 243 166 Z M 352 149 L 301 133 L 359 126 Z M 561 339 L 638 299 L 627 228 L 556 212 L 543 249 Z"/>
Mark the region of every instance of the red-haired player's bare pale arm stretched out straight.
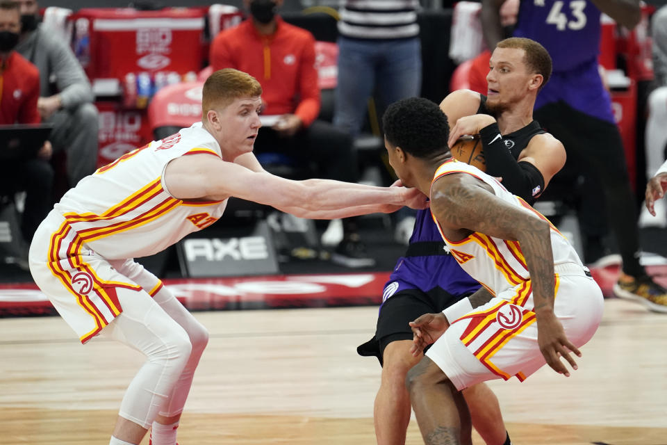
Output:
<path fill-rule="evenodd" d="M 179 199 L 224 200 L 235 196 L 267 204 L 301 218 L 345 218 L 395 211 L 404 205 L 427 207 L 416 188 L 374 187 L 327 179 L 292 181 L 208 154 L 181 156 L 167 165 L 165 184 Z"/>

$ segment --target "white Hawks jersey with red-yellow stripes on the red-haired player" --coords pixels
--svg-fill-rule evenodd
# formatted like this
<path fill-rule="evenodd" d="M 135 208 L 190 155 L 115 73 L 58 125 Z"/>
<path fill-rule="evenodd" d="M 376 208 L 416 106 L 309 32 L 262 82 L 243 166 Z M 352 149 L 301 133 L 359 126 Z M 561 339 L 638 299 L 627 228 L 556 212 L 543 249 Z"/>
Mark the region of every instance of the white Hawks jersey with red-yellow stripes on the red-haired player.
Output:
<path fill-rule="evenodd" d="M 201 122 L 121 156 L 79 181 L 56 204 L 70 227 L 106 259 L 156 254 L 183 236 L 213 224 L 227 200 L 183 201 L 167 191 L 167 164 L 186 154 L 222 158 Z"/>

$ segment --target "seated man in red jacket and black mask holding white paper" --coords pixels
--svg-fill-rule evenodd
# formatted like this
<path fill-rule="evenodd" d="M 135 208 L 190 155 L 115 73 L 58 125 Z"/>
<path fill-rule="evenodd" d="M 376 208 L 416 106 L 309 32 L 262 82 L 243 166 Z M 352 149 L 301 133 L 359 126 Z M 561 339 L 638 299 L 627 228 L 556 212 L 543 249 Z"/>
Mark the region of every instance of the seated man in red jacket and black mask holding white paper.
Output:
<path fill-rule="evenodd" d="M 211 44 L 213 70 L 236 68 L 254 76 L 263 89 L 263 115 L 275 116 L 261 130 L 254 152 L 279 152 L 314 163 L 318 175 L 355 182 L 352 138 L 318 120 L 320 88 L 315 69 L 315 38 L 276 15 L 282 0 L 245 0 L 251 17 L 218 34 Z M 343 241 L 331 256 L 343 266 L 373 266 L 359 241 L 354 219 L 343 220 Z"/>

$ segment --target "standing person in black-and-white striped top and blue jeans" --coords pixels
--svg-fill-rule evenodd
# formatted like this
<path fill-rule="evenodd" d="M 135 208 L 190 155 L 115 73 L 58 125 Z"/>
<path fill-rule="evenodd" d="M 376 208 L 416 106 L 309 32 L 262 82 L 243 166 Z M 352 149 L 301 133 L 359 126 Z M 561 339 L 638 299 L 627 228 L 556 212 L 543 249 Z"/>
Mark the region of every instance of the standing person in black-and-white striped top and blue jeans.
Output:
<path fill-rule="evenodd" d="M 365 121 L 368 99 L 374 93 L 385 105 L 420 95 L 419 1 L 341 3 L 334 124 L 355 138 Z M 413 215 L 407 210 L 398 212 L 397 241 L 408 243 L 415 222 Z"/>

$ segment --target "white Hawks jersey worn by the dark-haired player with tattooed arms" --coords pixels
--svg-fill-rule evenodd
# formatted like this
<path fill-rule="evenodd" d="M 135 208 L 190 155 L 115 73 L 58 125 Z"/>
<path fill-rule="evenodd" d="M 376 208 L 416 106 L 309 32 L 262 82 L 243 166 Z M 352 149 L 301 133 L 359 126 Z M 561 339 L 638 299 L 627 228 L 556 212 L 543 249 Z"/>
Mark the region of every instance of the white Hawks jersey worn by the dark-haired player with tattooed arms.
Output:
<path fill-rule="evenodd" d="M 538 218 L 547 220 L 541 213 L 530 207 L 527 202 L 507 191 L 494 177 L 486 175 L 486 173 L 481 172 L 481 170 L 472 165 L 456 161 L 455 159 L 451 159 L 440 165 L 431 182 L 431 187 L 438 178 L 452 173 L 466 173 L 477 179 L 481 179 L 491 186 L 495 195 L 504 202 Z M 480 232 L 474 232 L 461 241 L 451 241 L 443 234 L 443 230 L 435 216 L 433 218 L 452 257 L 459 262 L 461 268 L 466 270 L 468 275 L 493 292 L 494 295 L 529 280 L 530 274 L 518 241 L 507 241 Z M 570 242 L 554 225 L 551 223 L 550 225 L 554 264 L 570 263 L 583 267 L 581 259 L 579 259 L 577 252 L 570 245 Z"/>

